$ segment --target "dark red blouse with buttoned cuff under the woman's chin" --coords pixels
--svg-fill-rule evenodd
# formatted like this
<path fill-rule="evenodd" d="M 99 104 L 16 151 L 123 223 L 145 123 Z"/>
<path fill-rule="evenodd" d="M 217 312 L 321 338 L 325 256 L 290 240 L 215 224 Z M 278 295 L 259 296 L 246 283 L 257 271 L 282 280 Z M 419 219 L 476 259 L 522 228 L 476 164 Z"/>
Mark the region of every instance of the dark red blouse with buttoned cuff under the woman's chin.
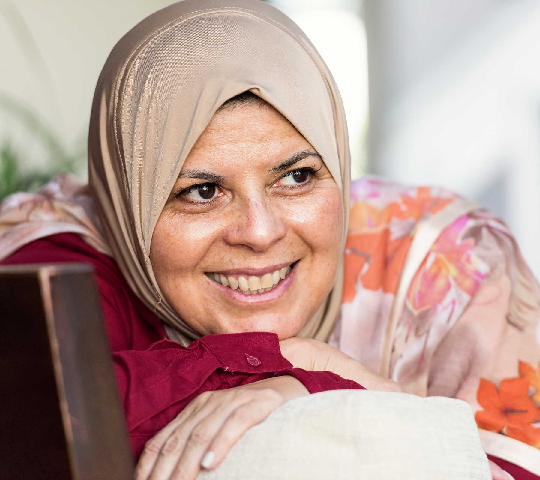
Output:
<path fill-rule="evenodd" d="M 238 387 L 276 375 L 298 378 L 309 393 L 363 389 L 329 371 L 293 368 L 281 355 L 275 333 L 206 335 L 188 347 L 167 340 L 163 324 L 132 292 L 117 263 L 79 235 L 63 233 L 33 241 L 1 263 L 52 262 L 91 263 L 94 267 L 136 459 L 147 440 L 207 390 Z"/>

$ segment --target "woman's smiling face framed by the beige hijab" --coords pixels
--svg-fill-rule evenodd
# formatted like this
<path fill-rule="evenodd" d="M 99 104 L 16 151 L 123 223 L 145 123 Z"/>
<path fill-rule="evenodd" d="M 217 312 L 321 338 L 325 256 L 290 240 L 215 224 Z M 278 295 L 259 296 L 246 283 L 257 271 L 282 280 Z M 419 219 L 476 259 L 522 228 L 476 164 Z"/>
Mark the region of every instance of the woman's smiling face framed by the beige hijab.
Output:
<path fill-rule="evenodd" d="M 308 141 L 272 106 L 240 105 L 218 111 L 187 157 L 150 259 L 201 335 L 286 339 L 332 287 L 342 222 L 338 185 Z"/>

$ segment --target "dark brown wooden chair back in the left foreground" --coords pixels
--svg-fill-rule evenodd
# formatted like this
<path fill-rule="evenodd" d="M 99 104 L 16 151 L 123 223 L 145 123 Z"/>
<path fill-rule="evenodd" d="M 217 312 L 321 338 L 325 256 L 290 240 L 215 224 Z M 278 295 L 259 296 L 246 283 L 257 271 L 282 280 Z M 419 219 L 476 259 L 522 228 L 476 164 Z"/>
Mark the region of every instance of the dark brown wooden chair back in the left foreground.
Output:
<path fill-rule="evenodd" d="M 92 268 L 0 267 L 0 478 L 128 480 Z"/>

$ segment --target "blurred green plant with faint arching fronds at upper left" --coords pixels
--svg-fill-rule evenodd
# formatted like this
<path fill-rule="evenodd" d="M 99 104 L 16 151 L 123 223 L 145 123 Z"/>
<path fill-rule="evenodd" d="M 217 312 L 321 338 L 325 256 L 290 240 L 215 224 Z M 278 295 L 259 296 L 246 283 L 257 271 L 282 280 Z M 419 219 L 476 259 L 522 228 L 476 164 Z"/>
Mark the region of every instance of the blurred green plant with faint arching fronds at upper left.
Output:
<path fill-rule="evenodd" d="M 12 2 L 4 1 L 0 3 L 0 13 L 5 17 L 30 65 L 36 69 L 36 78 L 40 79 L 40 85 L 47 87 L 50 98 L 54 98 L 45 60 L 21 12 Z M 47 157 L 46 167 L 37 167 L 35 162 L 30 161 L 28 151 L 21 151 L 21 147 L 17 148 L 9 138 L 0 140 L 0 200 L 18 191 L 35 191 L 55 174 L 61 171 L 76 172 L 82 165 L 86 157 L 86 132 L 77 141 L 75 149 L 68 149 L 55 130 L 31 107 L 1 91 L 0 113 L 21 124 L 28 135 L 26 147 L 39 143 Z"/>

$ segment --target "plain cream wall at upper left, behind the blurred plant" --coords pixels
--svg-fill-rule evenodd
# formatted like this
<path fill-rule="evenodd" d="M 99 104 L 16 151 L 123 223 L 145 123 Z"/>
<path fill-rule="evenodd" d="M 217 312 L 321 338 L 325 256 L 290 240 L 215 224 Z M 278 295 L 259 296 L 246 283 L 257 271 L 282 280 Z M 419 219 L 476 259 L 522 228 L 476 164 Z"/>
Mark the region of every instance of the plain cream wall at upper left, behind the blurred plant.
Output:
<path fill-rule="evenodd" d="M 93 90 L 114 44 L 168 0 L 0 0 L 0 94 L 28 105 L 66 148 L 84 145 Z M 42 144 L 0 108 L 0 140 L 43 163 Z"/>

